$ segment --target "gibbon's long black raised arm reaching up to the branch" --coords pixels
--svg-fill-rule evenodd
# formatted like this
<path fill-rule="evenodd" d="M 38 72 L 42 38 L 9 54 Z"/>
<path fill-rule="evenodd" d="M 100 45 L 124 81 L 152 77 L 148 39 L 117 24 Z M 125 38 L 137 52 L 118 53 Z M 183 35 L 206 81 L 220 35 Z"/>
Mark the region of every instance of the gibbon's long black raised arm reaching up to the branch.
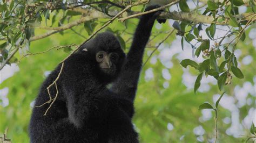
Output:
<path fill-rule="evenodd" d="M 158 6 L 149 6 L 145 11 L 158 8 Z M 151 30 L 161 11 L 143 15 L 133 35 L 133 42 L 129 53 L 127 54 L 126 61 L 121 70 L 121 73 L 116 82 L 113 83 L 112 91 L 118 93 L 120 96 L 134 101 L 140 70 L 142 68 L 143 53 L 147 41 L 150 38 Z M 164 22 L 161 20 L 161 22 Z"/>

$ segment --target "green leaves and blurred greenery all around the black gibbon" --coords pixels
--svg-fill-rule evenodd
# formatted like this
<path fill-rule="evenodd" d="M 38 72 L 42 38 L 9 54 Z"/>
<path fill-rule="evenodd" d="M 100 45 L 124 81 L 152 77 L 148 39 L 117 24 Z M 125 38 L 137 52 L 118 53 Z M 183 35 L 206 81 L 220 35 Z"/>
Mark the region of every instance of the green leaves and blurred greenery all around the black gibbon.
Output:
<path fill-rule="evenodd" d="M 1 69 L 5 64 L 11 63 L 17 63 L 20 69 L 1 84 L 1 89 L 9 88 L 10 103 L 6 107 L 0 106 L 0 134 L 9 127 L 8 137 L 12 141 L 29 142 L 29 105 L 35 99 L 39 85 L 45 78 L 45 71 L 53 70 L 74 51 L 74 44 L 81 44 L 103 28 L 102 31 L 117 35 L 122 48 L 127 52 L 138 20 L 128 19 L 122 23 L 117 18 L 106 27 L 103 25 L 109 22 L 117 11 L 130 4 L 134 4 L 134 1 L 0 1 Z M 177 5 L 173 5 L 179 6 L 179 15 L 185 16 L 189 13 L 191 19 L 170 17 L 173 13 L 167 12 L 166 9 L 165 15 L 176 21 L 171 20 L 172 26 L 156 24 L 152 30 L 147 54 L 144 57 L 144 61 L 149 62 L 144 65 L 135 103 L 134 124 L 142 142 L 196 142 L 200 135 L 193 134 L 193 129 L 198 125 L 205 129 L 205 139 L 215 138 L 214 126 L 217 123 L 212 118 L 198 122 L 201 115 L 198 106 L 200 110 L 215 110 L 217 116 L 217 109 L 220 108 L 219 103 L 224 94 L 215 102 L 215 108 L 210 102 L 212 95 L 223 91 L 228 95 L 234 95 L 233 91 L 238 85 L 247 81 L 253 83 L 253 78 L 256 78 L 253 73 L 255 66 L 240 63 L 246 55 L 251 55 L 253 61 L 256 57 L 252 39 L 248 38 L 248 32 L 255 28 L 254 1 L 244 3 L 238 0 L 225 0 L 200 4 L 197 3 L 196 8 L 192 9 L 188 6 L 189 2 L 179 1 Z M 239 12 L 239 6 L 246 6 L 246 13 Z M 132 6 L 122 17 L 144 9 L 145 4 Z M 210 23 L 200 23 L 203 19 L 199 17 L 206 16 L 211 19 Z M 218 30 L 222 28 L 219 25 L 226 25 L 224 35 L 219 35 Z M 176 30 L 177 36 L 171 35 L 173 29 Z M 181 37 L 180 51 L 186 52 L 192 48 L 193 58 L 177 60 L 177 55 L 170 55 L 171 58 L 168 60 L 172 60 L 171 68 L 161 60 L 161 54 L 163 49 L 166 49 L 163 47 L 170 46 L 172 39 L 176 37 Z M 239 56 L 235 54 L 237 49 L 242 53 Z M 183 74 L 187 69 L 180 65 L 195 76 L 194 91 L 186 87 Z M 148 79 L 147 73 L 151 70 L 153 77 Z M 163 73 L 166 70 L 172 76 L 171 80 L 164 77 Z M 232 78 L 232 75 L 237 78 Z M 213 77 L 218 85 L 210 84 L 209 91 L 200 91 L 206 84 L 205 77 Z M 253 98 L 253 95 L 249 95 L 248 98 Z M 203 103 L 205 101 L 209 102 Z M 241 119 L 247 116 L 248 110 L 252 107 L 251 104 L 239 108 Z M 225 135 L 225 130 L 230 125 L 223 123 L 221 118 L 230 116 L 231 113 L 225 108 L 218 110 L 218 140 L 221 142 L 240 140 L 232 135 Z M 174 130 L 166 128 L 169 123 L 173 124 Z M 253 125 L 247 134 L 255 136 Z M 180 139 L 181 137 L 183 138 Z"/>

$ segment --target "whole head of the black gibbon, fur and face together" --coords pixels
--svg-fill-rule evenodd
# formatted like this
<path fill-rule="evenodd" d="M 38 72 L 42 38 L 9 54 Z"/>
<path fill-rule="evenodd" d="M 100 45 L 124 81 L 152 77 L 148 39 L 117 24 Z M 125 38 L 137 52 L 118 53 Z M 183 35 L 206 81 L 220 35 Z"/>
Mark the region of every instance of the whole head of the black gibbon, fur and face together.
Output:
<path fill-rule="evenodd" d="M 96 64 L 96 73 L 106 82 L 115 80 L 126 57 L 117 37 L 109 32 L 97 34 L 80 50 L 89 53 L 93 64 Z"/>

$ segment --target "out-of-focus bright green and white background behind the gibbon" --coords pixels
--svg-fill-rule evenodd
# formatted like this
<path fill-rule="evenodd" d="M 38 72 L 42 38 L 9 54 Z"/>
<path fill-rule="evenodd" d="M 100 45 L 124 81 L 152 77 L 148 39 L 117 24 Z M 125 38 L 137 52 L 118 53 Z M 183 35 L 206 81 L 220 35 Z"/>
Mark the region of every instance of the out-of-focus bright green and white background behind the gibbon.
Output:
<path fill-rule="evenodd" d="M 102 25 L 99 20 L 97 27 Z M 131 38 L 138 19 L 127 20 L 127 27 L 120 22 L 113 22 L 103 31 L 119 32 L 129 51 Z M 157 45 L 172 30 L 171 22 L 164 25 L 155 24 L 149 45 Z M 96 27 L 96 29 L 97 29 Z M 221 27 L 222 28 L 222 27 Z M 83 26 L 75 31 L 88 37 Z M 124 31 L 125 30 L 125 31 Z M 35 34 L 44 33 L 36 30 Z M 217 31 L 217 34 L 220 31 Z M 250 135 L 249 129 L 253 116 L 255 120 L 255 87 L 256 87 L 256 26 L 246 31 L 246 40 L 239 42 L 237 57 L 239 67 L 245 78 L 234 77 L 232 84 L 225 86 L 226 94 L 221 99 L 218 109 L 218 142 L 240 142 Z M 156 37 L 156 38 L 154 38 Z M 72 30 L 63 34 L 54 34 L 48 38 L 33 41 L 31 53 L 46 51 L 57 45 L 79 45 L 85 39 Z M 198 110 L 204 102 L 214 105 L 222 93 L 213 78 L 203 77 L 199 92 L 193 92 L 197 72 L 193 68 L 185 69 L 180 61 L 192 58 L 190 45 L 181 50 L 180 37 L 175 33 L 152 55 L 143 67 L 136 97 L 136 114 L 133 123 L 140 135 L 141 142 L 212 142 L 215 137 L 214 112 Z M 146 48 L 144 61 L 149 58 L 152 48 Z M 0 134 L 9 128 L 8 138 L 12 142 L 29 142 L 28 124 L 31 115 L 31 103 L 36 98 L 39 87 L 49 71 L 70 53 L 67 49 L 28 56 L 21 60 L 13 76 L 1 83 L 0 95 Z M 21 58 L 19 53 L 15 55 Z M 199 58 L 199 61 L 202 60 Z M 15 67 L 15 65 L 12 65 Z M 10 71 L 9 71 L 10 70 Z M 6 66 L 1 71 L 1 78 L 13 68 Z M 2 81 L 2 80 L 1 80 Z M 7 89 L 8 88 L 8 89 Z M 8 90 L 8 94 L 4 94 Z"/>

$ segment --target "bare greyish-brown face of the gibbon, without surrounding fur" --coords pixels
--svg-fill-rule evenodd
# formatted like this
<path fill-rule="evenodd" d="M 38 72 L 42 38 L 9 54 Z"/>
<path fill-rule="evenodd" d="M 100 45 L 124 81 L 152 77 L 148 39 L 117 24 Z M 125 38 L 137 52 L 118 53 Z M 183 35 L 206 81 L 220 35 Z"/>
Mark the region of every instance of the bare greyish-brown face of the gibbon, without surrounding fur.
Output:
<path fill-rule="evenodd" d="M 106 75 L 113 76 L 117 74 L 119 60 L 120 57 L 118 53 L 109 53 L 105 51 L 96 53 L 96 61 L 98 62 L 99 69 Z"/>

